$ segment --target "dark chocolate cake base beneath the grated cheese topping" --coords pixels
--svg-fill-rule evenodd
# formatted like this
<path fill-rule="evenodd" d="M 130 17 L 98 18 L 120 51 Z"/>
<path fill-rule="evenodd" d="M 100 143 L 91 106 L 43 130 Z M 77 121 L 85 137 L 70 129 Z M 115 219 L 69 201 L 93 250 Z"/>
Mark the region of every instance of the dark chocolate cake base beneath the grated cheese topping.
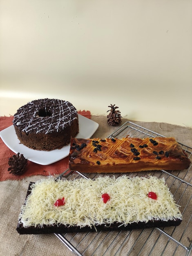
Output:
<path fill-rule="evenodd" d="M 31 184 L 33 182 L 30 182 L 29 188 L 27 191 L 26 199 L 28 195 L 31 193 Z M 132 230 L 132 229 L 144 229 L 144 228 L 154 228 L 154 227 L 170 227 L 170 226 L 179 226 L 181 224 L 181 219 L 176 220 L 168 220 L 168 221 L 162 221 L 162 220 L 150 220 L 148 222 L 134 222 L 125 225 L 121 225 L 122 223 L 114 222 L 111 225 L 103 224 L 103 225 L 96 225 L 95 227 L 92 225 L 92 227 L 78 227 L 78 226 L 65 226 L 62 224 L 54 224 L 54 225 L 43 225 L 43 226 L 29 226 L 29 227 L 23 227 L 22 223 L 20 221 L 18 222 L 18 225 L 16 227 L 16 230 L 19 234 L 51 234 L 51 233 L 76 233 L 76 232 L 88 232 L 88 231 L 112 231 L 112 230 Z"/>

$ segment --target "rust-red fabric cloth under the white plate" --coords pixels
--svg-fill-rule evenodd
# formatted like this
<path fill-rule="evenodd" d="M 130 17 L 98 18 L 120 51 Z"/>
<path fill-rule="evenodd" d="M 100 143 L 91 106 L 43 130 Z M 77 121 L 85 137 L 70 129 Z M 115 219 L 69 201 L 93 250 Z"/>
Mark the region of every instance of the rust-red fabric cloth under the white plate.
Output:
<path fill-rule="evenodd" d="M 91 119 L 90 111 L 81 111 L 78 113 Z M 12 125 L 13 117 L 0 117 L 0 131 Z M 15 155 L 0 139 L 0 181 L 4 180 L 22 180 L 23 177 L 32 176 L 32 175 L 59 175 L 63 173 L 67 168 L 69 168 L 69 159 L 65 157 L 60 161 L 49 164 L 49 165 L 40 165 L 35 164 L 31 161 L 28 161 L 26 172 L 22 175 L 13 175 L 10 174 L 8 168 L 9 157 Z"/>

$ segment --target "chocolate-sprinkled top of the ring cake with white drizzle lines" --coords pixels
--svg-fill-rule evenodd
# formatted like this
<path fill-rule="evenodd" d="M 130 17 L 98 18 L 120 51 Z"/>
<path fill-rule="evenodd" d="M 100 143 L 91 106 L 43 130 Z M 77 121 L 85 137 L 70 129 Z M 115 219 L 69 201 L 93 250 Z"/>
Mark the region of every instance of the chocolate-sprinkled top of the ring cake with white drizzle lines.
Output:
<path fill-rule="evenodd" d="M 45 116 L 40 116 L 40 111 Z M 39 99 L 27 103 L 14 115 L 13 125 L 22 132 L 59 132 L 78 119 L 76 108 L 68 101 L 58 99 Z"/>

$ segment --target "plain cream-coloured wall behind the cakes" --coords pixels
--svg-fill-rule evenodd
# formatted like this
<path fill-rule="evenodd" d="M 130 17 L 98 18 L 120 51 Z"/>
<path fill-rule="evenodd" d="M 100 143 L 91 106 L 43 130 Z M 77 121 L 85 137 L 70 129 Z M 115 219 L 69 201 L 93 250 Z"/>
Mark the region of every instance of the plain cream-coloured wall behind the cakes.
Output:
<path fill-rule="evenodd" d="M 192 1 L 0 0 L 0 115 L 45 97 L 192 126 Z"/>

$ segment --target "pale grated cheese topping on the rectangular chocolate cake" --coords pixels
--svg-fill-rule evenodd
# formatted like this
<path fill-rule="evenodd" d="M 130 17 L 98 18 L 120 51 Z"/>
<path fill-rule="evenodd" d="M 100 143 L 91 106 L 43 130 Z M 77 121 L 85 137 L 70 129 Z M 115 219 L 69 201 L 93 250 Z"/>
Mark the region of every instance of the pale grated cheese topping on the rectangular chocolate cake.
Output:
<path fill-rule="evenodd" d="M 113 222 L 126 226 L 132 222 L 182 219 L 165 180 L 157 177 L 123 175 L 58 181 L 48 178 L 32 184 L 31 189 L 19 216 L 24 227 L 54 224 L 95 227 Z M 151 191 L 156 193 L 156 200 L 147 196 Z M 106 204 L 103 193 L 110 196 Z M 65 204 L 56 207 L 56 200 L 63 197 Z"/>

